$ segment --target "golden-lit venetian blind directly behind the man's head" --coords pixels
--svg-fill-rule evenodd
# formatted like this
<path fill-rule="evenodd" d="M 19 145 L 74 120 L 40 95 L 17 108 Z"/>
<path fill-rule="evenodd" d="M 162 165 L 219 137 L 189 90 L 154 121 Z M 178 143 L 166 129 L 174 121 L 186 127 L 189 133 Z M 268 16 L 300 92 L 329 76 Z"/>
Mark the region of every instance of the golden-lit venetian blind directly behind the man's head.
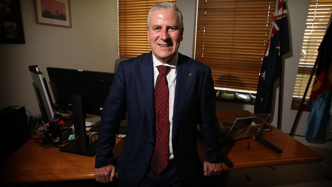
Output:
<path fill-rule="evenodd" d="M 119 57 L 136 57 L 151 51 L 147 35 L 147 17 L 160 0 L 118 0 Z M 176 1 L 168 1 L 176 4 Z"/>

